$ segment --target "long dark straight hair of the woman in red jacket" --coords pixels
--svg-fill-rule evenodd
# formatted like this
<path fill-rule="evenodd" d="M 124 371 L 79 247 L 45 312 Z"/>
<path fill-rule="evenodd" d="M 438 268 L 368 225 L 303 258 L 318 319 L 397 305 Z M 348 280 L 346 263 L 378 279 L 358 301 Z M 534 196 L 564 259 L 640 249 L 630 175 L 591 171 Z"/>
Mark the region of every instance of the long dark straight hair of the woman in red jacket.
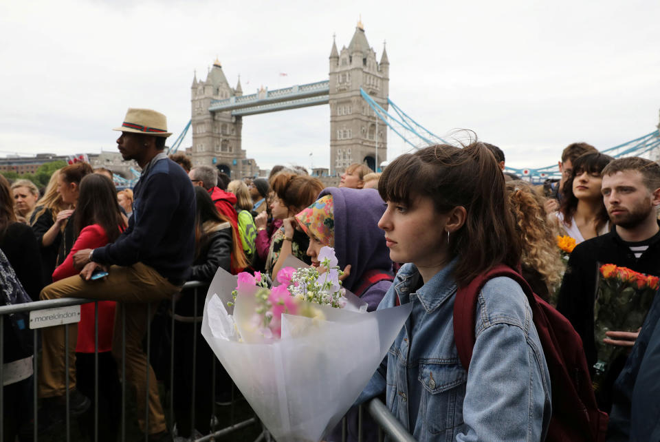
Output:
<path fill-rule="evenodd" d="M 103 228 L 108 242 L 115 242 L 126 227 L 117 201 L 115 185 L 100 173 L 90 173 L 80 180 L 74 235 L 78 237 L 80 231 L 91 224 L 99 224 Z"/>

